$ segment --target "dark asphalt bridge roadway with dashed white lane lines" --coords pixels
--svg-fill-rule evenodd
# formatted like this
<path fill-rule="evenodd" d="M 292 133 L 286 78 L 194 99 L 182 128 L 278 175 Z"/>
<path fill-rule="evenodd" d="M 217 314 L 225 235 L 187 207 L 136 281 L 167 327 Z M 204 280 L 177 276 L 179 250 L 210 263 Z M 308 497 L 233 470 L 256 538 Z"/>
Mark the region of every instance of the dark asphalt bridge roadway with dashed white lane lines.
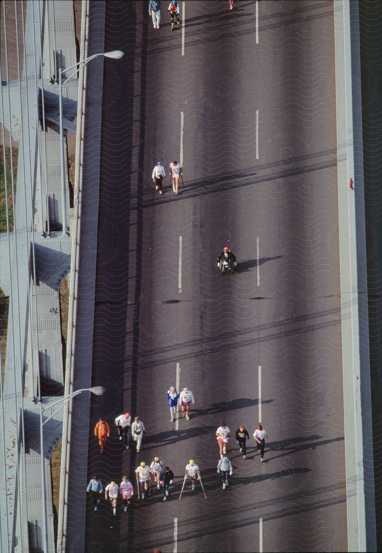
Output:
<path fill-rule="evenodd" d="M 152 487 L 128 513 L 119 499 L 116 517 L 89 498 L 86 551 L 346 551 L 333 3 L 181 2 L 184 55 L 167 3 L 160 29 L 147 4 L 107 2 L 105 51 L 125 56 L 104 69 L 93 383 L 107 394 L 88 477 L 134 484 L 157 455 L 176 479 L 166 503 Z M 181 156 L 176 196 L 168 165 Z M 224 246 L 235 275 L 216 267 Z M 178 425 L 166 397 L 177 366 L 195 397 Z M 146 427 L 139 454 L 118 440 L 125 411 Z M 188 484 L 179 501 L 190 458 L 207 499 Z"/>

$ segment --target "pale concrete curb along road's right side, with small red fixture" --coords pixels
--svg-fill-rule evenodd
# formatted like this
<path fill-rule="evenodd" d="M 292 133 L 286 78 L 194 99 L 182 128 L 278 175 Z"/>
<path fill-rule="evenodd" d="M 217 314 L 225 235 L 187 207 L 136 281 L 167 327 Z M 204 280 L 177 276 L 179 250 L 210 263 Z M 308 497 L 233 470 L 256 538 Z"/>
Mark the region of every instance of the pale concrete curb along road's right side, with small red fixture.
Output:
<path fill-rule="evenodd" d="M 348 551 L 376 551 L 358 2 L 334 17 Z"/>

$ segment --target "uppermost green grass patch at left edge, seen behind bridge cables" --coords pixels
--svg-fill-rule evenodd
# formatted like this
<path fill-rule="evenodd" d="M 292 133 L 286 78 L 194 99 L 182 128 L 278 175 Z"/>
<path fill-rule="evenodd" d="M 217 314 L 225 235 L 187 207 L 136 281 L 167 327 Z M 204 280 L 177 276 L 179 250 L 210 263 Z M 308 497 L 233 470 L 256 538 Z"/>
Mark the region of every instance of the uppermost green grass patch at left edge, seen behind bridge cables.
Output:
<path fill-rule="evenodd" d="M 14 191 L 16 193 L 18 148 L 12 148 Z M 4 163 L 4 149 L 0 147 L 0 232 L 7 232 L 7 202 L 9 231 L 13 232 L 13 202 L 12 202 L 12 164 L 9 146 L 6 147 L 6 159 Z M 6 194 L 7 176 L 7 194 Z M 6 198 L 7 196 L 7 198 Z"/>

